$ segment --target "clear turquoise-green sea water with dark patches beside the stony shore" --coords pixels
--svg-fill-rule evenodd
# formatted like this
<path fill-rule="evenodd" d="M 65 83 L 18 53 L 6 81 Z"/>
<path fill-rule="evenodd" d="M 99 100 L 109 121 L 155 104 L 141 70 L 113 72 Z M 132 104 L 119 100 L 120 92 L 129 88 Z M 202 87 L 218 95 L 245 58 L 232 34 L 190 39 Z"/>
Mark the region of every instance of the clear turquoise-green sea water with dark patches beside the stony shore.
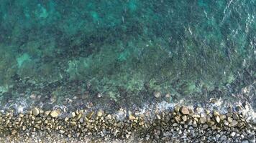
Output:
<path fill-rule="evenodd" d="M 255 16 L 254 0 L 1 0 L 1 109 L 256 109 Z"/>

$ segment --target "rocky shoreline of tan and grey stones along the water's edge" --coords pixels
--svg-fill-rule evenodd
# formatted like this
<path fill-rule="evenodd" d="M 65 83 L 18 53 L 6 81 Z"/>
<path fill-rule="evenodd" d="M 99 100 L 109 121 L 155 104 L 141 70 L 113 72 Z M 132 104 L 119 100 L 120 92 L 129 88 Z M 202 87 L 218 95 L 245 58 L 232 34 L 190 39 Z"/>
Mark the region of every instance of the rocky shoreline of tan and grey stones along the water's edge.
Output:
<path fill-rule="evenodd" d="M 11 110 L 0 114 L 0 142 L 255 142 L 255 123 L 242 108 L 224 114 L 180 105 L 153 114 Z"/>

